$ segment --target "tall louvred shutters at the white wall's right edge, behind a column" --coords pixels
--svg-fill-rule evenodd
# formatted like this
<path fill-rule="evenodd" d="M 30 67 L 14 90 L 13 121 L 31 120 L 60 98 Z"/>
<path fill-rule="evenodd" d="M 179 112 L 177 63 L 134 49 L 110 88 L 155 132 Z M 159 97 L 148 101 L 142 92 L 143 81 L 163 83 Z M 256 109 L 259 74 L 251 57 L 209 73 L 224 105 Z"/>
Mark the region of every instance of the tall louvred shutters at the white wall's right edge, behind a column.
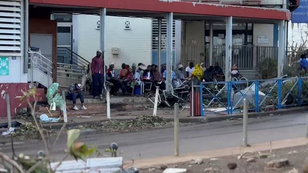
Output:
<path fill-rule="evenodd" d="M 161 20 L 161 50 L 167 48 L 167 21 Z M 172 23 L 172 49 L 175 47 L 175 21 Z M 152 50 L 158 50 L 158 20 L 152 20 Z"/>

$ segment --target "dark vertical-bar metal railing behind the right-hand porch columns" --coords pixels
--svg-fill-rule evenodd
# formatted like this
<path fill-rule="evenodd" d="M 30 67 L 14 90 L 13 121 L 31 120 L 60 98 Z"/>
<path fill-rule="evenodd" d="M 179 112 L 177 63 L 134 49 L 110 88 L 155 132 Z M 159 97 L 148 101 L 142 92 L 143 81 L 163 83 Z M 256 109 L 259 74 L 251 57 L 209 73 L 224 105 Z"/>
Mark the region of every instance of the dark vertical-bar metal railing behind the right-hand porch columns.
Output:
<path fill-rule="evenodd" d="M 181 62 L 188 65 L 190 61 L 196 64 L 205 63 L 209 66 L 210 46 L 182 45 Z M 289 52 L 290 53 L 290 52 Z M 225 66 L 225 45 L 214 45 L 212 48 L 213 62 Z M 237 64 L 239 69 L 257 69 L 263 59 L 277 59 L 278 47 L 257 45 L 233 45 L 232 64 Z"/>

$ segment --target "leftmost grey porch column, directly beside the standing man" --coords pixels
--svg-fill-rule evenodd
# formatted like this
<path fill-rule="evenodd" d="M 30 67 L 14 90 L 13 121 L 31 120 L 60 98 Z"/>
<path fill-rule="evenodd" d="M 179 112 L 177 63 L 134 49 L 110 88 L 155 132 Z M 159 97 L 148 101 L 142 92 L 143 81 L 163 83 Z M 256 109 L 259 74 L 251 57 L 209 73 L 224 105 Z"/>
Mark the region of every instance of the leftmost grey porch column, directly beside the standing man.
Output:
<path fill-rule="evenodd" d="M 103 57 L 105 54 L 105 21 L 106 21 L 105 19 L 106 19 L 106 8 L 100 8 L 100 49 L 103 51 L 102 55 Z M 105 67 L 103 67 L 103 70 L 104 72 L 106 71 Z M 103 75 L 104 75 L 103 86 L 105 87 L 106 73 L 103 73 Z"/>

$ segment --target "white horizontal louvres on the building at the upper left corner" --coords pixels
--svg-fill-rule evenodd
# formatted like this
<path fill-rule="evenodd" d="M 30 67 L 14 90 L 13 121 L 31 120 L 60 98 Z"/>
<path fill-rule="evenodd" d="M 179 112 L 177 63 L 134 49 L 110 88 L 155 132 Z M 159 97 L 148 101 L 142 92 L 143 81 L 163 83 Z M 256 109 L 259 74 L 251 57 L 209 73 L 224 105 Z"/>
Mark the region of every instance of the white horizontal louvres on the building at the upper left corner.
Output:
<path fill-rule="evenodd" d="M 21 53 L 21 2 L 0 0 L 0 53 Z"/>

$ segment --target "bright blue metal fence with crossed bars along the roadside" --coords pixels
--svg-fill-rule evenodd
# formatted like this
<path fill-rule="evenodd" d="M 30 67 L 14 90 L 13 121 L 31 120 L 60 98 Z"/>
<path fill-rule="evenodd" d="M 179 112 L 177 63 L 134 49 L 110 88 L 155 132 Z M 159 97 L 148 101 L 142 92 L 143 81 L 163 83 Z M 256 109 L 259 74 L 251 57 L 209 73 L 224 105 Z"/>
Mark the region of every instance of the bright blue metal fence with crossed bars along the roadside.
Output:
<path fill-rule="evenodd" d="M 256 81 L 201 83 L 201 112 L 241 112 L 247 98 L 249 110 L 264 112 L 308 104 L 308 77 Z"/>

